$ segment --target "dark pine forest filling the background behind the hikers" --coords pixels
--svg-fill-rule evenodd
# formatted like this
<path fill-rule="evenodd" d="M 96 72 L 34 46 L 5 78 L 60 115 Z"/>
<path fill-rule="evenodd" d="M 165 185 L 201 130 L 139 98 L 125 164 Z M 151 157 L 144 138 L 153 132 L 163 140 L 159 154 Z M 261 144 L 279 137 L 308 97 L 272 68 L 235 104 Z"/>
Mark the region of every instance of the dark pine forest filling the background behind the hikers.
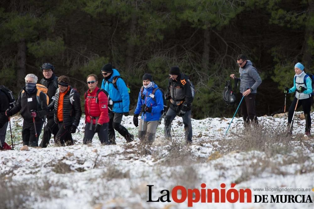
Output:
<path fill-rule="evenodd" d="M 110 62 L 129 84 L 133 111 L 143 74 L 165 89 L 178 65 L 196 87 L 193 118 L 232 116 L 222 91 L 242 53 L 263 80 L 260 116 L 283 112 L 296 62 L 314 73 L 314 0 L 3 0 L 0 18 L 0 84 L 15 95 L 49 62 L 83 98 L 86 76 L 99 75 L 100 86 Z"/>

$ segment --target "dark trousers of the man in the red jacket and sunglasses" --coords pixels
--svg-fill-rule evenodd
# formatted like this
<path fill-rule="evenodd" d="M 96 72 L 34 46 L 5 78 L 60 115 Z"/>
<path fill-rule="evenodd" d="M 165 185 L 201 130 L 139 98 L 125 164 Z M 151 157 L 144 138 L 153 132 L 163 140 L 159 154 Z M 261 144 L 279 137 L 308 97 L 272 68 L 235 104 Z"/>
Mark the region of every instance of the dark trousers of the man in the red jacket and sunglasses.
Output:
<path fill-rule="evenodd" d="M 95 135 L 95 125 L 92 125 L 92 130 L 90 129 L 90 123 L 86 123 L 85 132 L 83 138 L 83 144 L 92 143 L 93 137 Z M 99 132 L 97 133 L 101 144 L 110 144 L 108 140 L 108 123 L 101 125 Z"/>

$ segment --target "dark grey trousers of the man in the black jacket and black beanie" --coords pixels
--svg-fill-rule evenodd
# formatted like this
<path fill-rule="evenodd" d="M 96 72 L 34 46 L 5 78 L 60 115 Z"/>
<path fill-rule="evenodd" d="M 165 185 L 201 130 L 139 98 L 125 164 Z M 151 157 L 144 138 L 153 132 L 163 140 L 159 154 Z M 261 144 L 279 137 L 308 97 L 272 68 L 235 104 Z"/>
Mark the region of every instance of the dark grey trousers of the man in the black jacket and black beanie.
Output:
<path fill-rule="evenodd" d="M 165 116 L 165 138 L 171 140 L 171 122 L 175 119 L 177 112 L 169 108 Z M 186 111 L 182 117 L 184 130 L 185 130 L 185 141 L 192 142 L 192 123 L 191 123 L 191 110 Z"/>

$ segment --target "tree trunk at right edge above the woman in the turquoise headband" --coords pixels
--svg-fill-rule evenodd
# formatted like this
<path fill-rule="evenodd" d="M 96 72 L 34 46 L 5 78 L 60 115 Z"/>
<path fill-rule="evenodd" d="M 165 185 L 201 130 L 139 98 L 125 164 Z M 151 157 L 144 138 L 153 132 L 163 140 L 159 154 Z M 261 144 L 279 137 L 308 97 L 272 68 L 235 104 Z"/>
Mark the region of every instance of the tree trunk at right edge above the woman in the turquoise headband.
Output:
<path fill-rule="evenodd" d="M 311 18 L 314 17 L 314 1 L 309 1 L 309 7 L 307 11 L 307 21 L 311 21 Z M 302 62 L 306 69 L 310 69 L 312 66 L 313 58 L 312 52 L 313 48 L 307 43 L 310 38 L 313 38 L 313 26 L 307 25 L 305 29 L 304 45 L 303 45 L 303 57 Z"/>

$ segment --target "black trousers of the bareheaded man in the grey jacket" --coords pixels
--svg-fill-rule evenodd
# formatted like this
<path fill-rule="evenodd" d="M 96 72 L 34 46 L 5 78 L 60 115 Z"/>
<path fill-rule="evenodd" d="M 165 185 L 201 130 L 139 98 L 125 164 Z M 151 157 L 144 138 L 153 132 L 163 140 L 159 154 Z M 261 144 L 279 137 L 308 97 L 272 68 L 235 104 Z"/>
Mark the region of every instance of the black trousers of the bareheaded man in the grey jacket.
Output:
<path fill-rule="evenodd" d="M 240 108 L 244 124 L 250 123 L 250 120 L 258 123 L 255 110 L 255 97 L 256 94 L 249 94 L 243 98 Z"/>

